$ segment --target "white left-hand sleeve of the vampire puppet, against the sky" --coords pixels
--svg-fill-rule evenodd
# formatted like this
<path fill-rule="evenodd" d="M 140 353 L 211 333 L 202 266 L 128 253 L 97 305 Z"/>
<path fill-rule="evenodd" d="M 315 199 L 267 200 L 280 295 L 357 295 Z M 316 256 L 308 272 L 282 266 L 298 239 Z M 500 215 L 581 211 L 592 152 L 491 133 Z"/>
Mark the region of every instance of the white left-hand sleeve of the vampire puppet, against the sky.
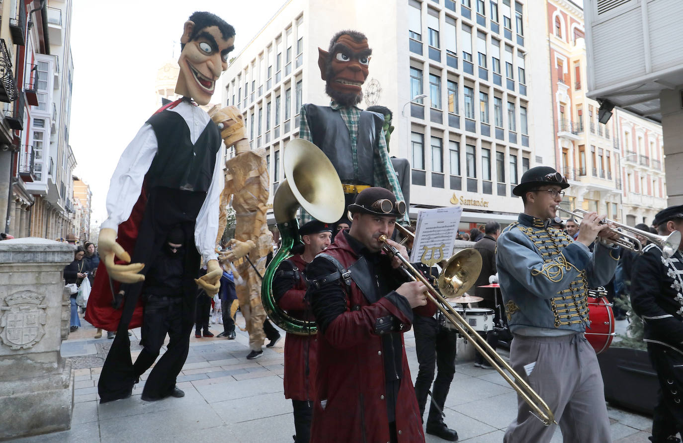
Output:
<path fill-rule="evenodd" d="M 142 182 L 156 151 L 156 134 L 152 126 L 145 123 L 124 150 L 111 176 L 107 192 L 107 220 L 104 220 L 100 229 L 117 230 L 121 223 L 128 220 L 140 197 Z"/>

